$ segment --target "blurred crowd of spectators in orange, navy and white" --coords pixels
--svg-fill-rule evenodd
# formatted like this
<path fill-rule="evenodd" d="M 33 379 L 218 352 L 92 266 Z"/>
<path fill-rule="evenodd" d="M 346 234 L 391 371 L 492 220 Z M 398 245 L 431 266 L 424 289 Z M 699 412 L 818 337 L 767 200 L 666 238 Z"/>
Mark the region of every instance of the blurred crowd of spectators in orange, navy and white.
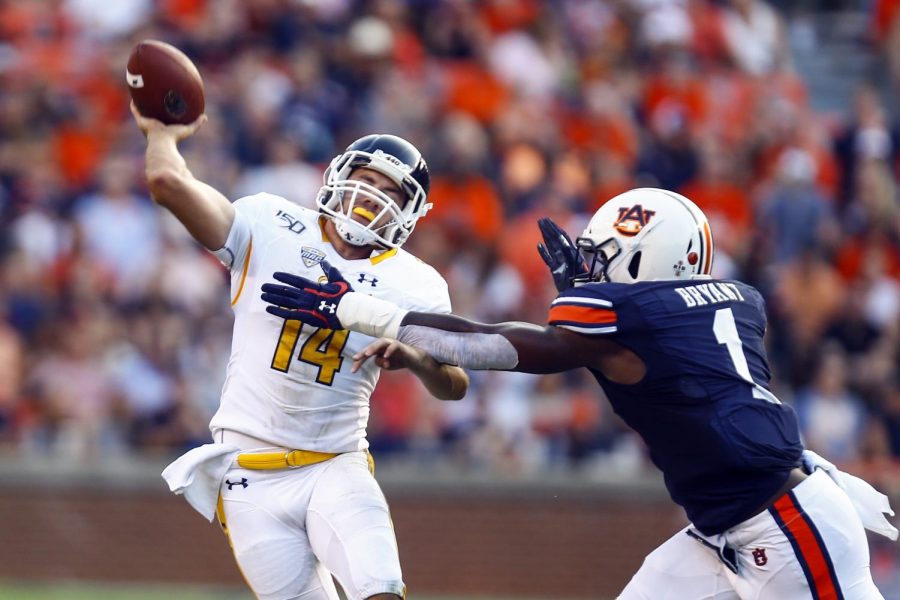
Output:
<path fill-rule="evenodd" d="M 632 187 L 687 195 L 712 222 L 715 275 L 767 298 L 773 389 L 807 445 L 900 488 L 900 2 L 784 4 L 0 1 L 0 449 L 91 460 L 207 441 L 227 280 L 143 183 L 124 66 L 155 38 L 203 75 L 209 122 L 183 152 L 232 199 L 311 207 L 356 137 L 417 144 L 434 209 L 406 248 L 469 317 L 544 321 L 538 216 L 577 235 Z M 794 25 L 830 10 L 864 12 L 860 47 L 885 65 L 840 113 L 813 108 L 791 50 Z M 587 373 L 472 375 L 440 403 L 384 374 L 376 455 L 645 467 Z"/>

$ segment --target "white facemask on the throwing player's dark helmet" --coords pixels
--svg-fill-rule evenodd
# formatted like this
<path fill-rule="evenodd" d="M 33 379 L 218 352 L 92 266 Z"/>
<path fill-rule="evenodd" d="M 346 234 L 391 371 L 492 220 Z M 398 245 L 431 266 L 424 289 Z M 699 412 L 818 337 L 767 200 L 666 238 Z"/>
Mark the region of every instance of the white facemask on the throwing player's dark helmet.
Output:
<path fill-rule="evenodd" d="M 325 171 L 325 184 L 317 198 L 320 212 L 331 218 L 338 234 L 354 246 L 400 247 L 416 221 L 431 208 L 425 201 L 425 190 L 405 167 L 380 150 L 354 150 L 339 155 Z M 368 182 L 350 179 L 357 168 L 371 169 L 390 178 L 405 196 L 405 203 Z M 366 204 L 374 206 L 370 209 Z M 368 223 L 354 219 L 354 213 L 369 219 Z"/>

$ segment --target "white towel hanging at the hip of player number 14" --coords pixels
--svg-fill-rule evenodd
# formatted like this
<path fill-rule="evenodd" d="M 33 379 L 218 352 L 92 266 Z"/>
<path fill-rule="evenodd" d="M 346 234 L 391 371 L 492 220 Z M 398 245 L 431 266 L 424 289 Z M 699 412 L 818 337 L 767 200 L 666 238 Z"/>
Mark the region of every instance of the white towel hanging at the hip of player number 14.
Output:
<path fill-rule="evenodd" d="M 225 473 L 240 454 L 231 444 L 204 444 L 181 455 L 162 472 L 169 489 L 184 494 L 194 510 L 212 521 Z"/>

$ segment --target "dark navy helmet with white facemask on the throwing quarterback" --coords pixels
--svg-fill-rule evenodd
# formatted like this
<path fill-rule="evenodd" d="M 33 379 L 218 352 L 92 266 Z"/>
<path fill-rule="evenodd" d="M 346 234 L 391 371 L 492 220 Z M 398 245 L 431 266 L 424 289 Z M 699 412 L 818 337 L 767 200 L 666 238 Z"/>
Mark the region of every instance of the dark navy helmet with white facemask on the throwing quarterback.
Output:
<path fill-rule="evenodd" d="M 354 169 L 365 167 L 392 179 L 406 196 L 401 205 L 364 181 L 350 179 Z M 374 134 L 362 137 L 331 161 L 316 203 L 319 212 L 335 222 L 338 234 L 355 246 L 397 248 L 406 241 L 416 221 L 431 208 L 426 201 L 431 178 L 422 154 L 403 138 Z M 377 210 L 366 213 L 368 223 L 352 218 L 360 197 L 374 202 Z"/>

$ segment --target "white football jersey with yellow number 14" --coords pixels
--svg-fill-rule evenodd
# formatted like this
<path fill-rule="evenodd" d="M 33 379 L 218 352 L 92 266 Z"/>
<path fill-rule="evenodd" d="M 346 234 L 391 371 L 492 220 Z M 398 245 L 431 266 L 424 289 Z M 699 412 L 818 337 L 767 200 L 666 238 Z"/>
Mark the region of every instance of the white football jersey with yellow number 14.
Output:
<path fill-rule="evenodd" d="M 403 308 L 450 312 L 447 282 L 403 249 L 345 260 L 327 241 L 319 213 L 280 196 L 234 203 L 235 220 L 216 256 L 231 270 L 234 333 L 219 410 L 210 430 L 237 431 L 273 445 L 321 452 L 368 447 L 369 396 L 379 367 L 350 372 L 352 356 L 373 338 L 333 331 L 266 312 L 260 288 L 275 271 L 324 277 L 325 258 L 357 292 Z"/>

